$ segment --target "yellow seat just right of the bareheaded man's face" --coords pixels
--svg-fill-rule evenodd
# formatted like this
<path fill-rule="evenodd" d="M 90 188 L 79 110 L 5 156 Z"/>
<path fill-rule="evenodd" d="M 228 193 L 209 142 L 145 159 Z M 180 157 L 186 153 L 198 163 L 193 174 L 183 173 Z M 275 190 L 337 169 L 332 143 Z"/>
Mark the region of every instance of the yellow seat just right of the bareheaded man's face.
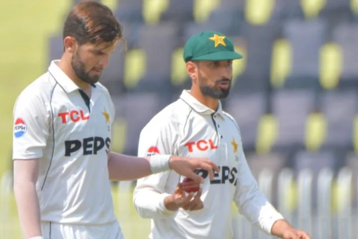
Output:
<path fill-rule="evenodd" d="M 146 55 L 141 49 L 129 50 L 124 61 L 124 85 L 135 87 L 146 71 Z"/>

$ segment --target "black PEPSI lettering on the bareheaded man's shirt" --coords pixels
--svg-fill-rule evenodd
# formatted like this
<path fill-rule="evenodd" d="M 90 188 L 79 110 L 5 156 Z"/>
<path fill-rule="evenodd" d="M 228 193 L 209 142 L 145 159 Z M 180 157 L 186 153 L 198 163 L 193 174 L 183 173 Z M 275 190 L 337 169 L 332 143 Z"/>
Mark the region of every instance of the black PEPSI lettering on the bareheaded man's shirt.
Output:
<path fill-rule="evenodd" d="M 82 140 L 67 140 L 65 141 L 65 156 L 71 156 L 72 153 L 83 150 L 83 155 L 97 154 L 104 146 L 106 146 L 106 153 L 108 153 L 110 145 L 110 138 L 102 137 L 88 137 Z"/>

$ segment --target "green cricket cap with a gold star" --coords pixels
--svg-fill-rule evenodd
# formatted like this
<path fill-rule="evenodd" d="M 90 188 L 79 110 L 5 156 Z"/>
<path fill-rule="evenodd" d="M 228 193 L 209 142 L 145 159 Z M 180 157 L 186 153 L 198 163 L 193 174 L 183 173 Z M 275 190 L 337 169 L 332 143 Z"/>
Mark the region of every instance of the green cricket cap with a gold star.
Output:
<path fill-rule="evenodd" d="M 234 44 L 224 34 L 206 30 L 191 36 L 185 43 L 183 58 L 188 61 L 223 61 L 241 59 Z"/>

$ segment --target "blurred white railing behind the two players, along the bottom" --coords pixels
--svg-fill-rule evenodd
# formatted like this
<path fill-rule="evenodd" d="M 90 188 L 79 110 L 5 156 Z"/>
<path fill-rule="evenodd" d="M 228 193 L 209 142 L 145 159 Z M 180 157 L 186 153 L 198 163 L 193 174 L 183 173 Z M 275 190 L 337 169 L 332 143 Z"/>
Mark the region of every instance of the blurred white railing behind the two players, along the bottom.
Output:
<path fill-rule="evenodd" d="M 273 183 L 274 178 L 277 178 L 277 185 Z M 358 190 L 352 190 L 358 184 L 353 182 L 349 168 L 342 168 L 336 177 L 329 168 L 323 168 L 318 175 L 304 169 L 296 176 L 290 169 L 283 169 L 278 175 L 264 170 L 258 177 L 258 184 L 269 199 L 273 196 L 276 198 L 277 209 L 284 217 L 295 227 L 308 231 L 312 239 L 358 238 L 358 211 L 352 200 L 358 198 L 358 195 L 353 195 Z M 9 172 L 2 176 L 0 185 L 0 239 L 11 239 L 13 236 L 7 229 L 8 219 L 17 218 L 9 210 L 10 205 L 14 205 Z M 277 195 L 272 193 L 274 188 L 277 188 Z M 139 238 L 141 231 L 146 235 L 150 229 L 149 220 L 140 219 L 133 209 L 132 190 L 131 182 L 120 182 L 115 190 L 116 215 L 127 239 Z M 241 215 L 233 217 L 233 231 L 234 239 L 273 238 L 262 233 Z"/>

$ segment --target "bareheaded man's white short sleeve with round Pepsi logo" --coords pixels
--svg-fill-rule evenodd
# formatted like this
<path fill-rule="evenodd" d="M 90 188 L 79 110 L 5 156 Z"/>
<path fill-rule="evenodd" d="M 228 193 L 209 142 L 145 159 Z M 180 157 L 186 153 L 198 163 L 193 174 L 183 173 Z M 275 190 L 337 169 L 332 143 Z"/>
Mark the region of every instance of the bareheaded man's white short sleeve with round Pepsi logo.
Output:
<path fill-rule="evenodd" d="M 12 158 L 43 156 L 49 136 L 50 114 L 40 93 L 24 91 L 13 108 Z"/>

